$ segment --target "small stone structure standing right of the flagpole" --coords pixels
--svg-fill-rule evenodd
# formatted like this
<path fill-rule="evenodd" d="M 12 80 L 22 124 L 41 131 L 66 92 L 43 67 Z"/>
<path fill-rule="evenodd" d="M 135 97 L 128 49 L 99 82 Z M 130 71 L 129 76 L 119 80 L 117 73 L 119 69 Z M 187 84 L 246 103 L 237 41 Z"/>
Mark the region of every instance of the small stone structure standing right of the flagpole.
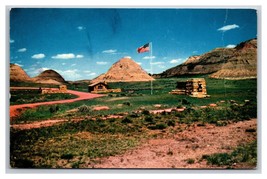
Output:
<path fill-rule="evenodd" d="M 205 98 L 207 95 L 206 81 L 204 78 L 193 78 L 191 80 L 177 82 L 175 90 L 171 94 L 189 95 L 191 97 Z"/>

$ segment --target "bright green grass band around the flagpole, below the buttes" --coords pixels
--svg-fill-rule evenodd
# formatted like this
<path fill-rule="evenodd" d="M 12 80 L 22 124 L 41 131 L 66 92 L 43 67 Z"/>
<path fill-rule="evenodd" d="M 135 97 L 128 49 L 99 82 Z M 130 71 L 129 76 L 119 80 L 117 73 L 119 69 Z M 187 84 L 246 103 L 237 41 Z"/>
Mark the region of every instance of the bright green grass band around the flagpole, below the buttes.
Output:
<path fill-rule="evenodd" d="M 211 95 L 210 98 L 198 99 L 185 95 L 168 94 L 172 89 L 175 89 L 176 82 L 185 79 L 159 79 L 154 83 L 154 94 L 150 95 L 150 82 L 132 82 L 132 83 L 109 83 L 111 88 L 122 88 L 122 93 L 110 94 L 109 96 L 96 98 L 92 100 L 78 101 L 69 104 L 59 104 L 59 110 L 56 113 L 50 114 L 49 106 L 38 107 L 37 109 L 29 109 L 26 113 L 18 117 L 14 122 L 23 120 L 34 121 L 43 120 L 50 117 L 57 117 L 66 114 L 67 110 L 79 108 L 80 106 L 96 106 L 105 105 L 110 108 L 107 111 L 92 111 L 84 115 L 109 115 L 125 112 L 137 111 L 140 108 L 147 110 L 156 109 L 155 104 L 161 104 L 162 108 L 170 108 L 184 105 L 182 101 L 187 101 L 191 107 L 203 106 L 210 103 L 218 103 L 221 100 L 235 100 L 237 103 L 243 103 L 244 100 L 250 100 L 256 107 L 257 96 L 257 80 L 218 80 L 207 78 L 207 91 Z M 123 100 L 116 100 L 120 97 L 126 97 Z M 125 105 L 127 103 L 127 105 Z M 121 105 L 122 104 L 122 105 Z M 129 104 L 129 105 L 128 105 Z M 40 109 L 39 109 L 40 108 Z M 42 111 L 42 115 L 38 114 Z M 69 114 L 68 114 L 69 115 Z M 226 115 L 226 114 L 222 114 Z M 79 113 L 79 116 L 82 116 Z M 75 117 L 75 116 L 70 116 Z M 226 115 L 227 117 L 227 115 Z M 238 117 L 238 116 L 237 116 Z"/>

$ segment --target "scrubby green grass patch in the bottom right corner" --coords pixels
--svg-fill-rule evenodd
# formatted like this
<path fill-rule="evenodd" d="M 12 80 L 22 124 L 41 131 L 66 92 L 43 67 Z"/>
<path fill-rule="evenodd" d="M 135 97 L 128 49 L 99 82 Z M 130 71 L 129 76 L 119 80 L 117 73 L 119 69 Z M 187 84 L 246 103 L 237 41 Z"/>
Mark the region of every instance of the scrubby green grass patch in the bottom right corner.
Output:
<path fill-rule="evenodd" d="M 202 159 L 205 159 L 209 165 L 233 168 L 237 163 L 246 163 L 255 168 L 257 165 L 257 141 L 239 146 L 231 153 L 204 155 Z"/>

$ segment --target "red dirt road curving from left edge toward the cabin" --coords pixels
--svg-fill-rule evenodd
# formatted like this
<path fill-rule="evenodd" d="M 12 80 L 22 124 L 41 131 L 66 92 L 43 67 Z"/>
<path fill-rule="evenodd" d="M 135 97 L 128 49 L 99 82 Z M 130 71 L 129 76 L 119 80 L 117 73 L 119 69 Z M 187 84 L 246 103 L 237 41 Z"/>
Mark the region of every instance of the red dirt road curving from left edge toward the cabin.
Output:
<path fill-rule="evenodd" d="M 93 98 L 98 98 L 98 97 L 104 96 L 101 94 L 91 94 L 91 93 L 87 93 L 87 92 L 80 92 L 80 91 L 74 91 L 74 90 L 67 90 L 67 93 L 74 94 L 74 95 L 78 96 L 78 98 L 59 100 L 59 101 L 31 103 L 31 104 L 19 104 L 19 105 L 10 106 L 10 108 L 9 108 L 10 120 L 12 120 L 12 118 L 14 118 L 15 116 L 18 116 L 23 109 L 34 108 L 34 107 L 41 106 L 41 105 L 72 103 L 72 102 L 76 102 L 76 101 L 88 100 L 88 99 L 93 99 Z"/>

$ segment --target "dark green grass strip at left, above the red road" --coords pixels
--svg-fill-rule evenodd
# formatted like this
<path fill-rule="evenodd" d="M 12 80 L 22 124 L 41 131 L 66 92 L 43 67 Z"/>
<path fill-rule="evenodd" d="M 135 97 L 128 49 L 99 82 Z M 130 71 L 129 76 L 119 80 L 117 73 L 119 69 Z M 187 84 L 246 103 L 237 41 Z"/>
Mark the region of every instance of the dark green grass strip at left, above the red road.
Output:
<path fill-rule="evenodd" d="M 27 104 L 27 103 L 37 103 L 37 102 L 47 102 L 56 101 L 64 99 L 74 99 L 77 98 L 73 94 L 40 94 L 38 90 L 16 90 L 11 91 L 10 105 L 16 104 Z"/>

